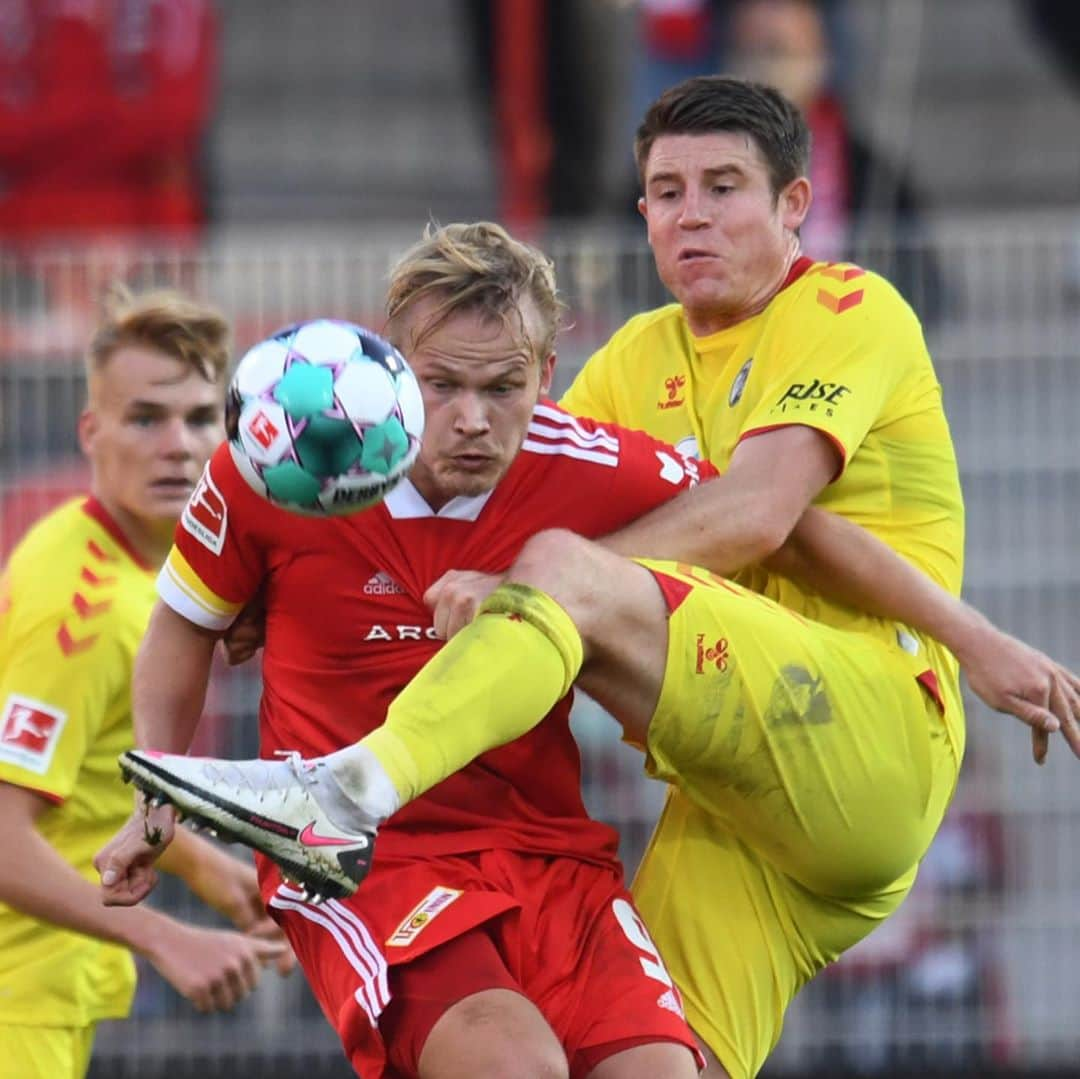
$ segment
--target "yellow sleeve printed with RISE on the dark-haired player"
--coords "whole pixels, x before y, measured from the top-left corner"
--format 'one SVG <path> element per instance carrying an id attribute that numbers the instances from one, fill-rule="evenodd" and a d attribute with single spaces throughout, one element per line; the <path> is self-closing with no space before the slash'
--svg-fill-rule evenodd
<path id="1" fill-rule="evenodd" d="M 825 434 L 845 467 L 902 407 L 902 387 L 929 363 L 915 313 L 883 279 L 837 266 L 799 291 L 755 356 L 775 373 L 740 440 L 793 423 Z M 841 470 L 842 471 L 842 470 Z"/>

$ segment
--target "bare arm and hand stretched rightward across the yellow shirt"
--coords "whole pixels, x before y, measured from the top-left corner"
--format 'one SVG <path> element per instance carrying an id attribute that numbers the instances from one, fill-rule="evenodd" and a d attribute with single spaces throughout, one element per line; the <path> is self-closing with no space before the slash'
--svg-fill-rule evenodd
<path id="1" fill-rule="evenodd" d="M 833 599 L 940 640 L 959 660 L 972 692 L 1031 728 L 1038 764 L 1056 730 L 1080 757 L 1080 677 L 1001 632 L 865 529 L 811 507 L 766 564 Z"/>

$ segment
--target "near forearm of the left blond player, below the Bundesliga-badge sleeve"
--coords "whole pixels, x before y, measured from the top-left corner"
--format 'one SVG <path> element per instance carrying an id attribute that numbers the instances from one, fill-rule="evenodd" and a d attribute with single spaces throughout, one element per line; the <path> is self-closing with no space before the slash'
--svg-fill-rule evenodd
<path id="1" fill-rule="evenodd" d="M 40 921 L 145 954 L 165 916 L 150 907 L 107 907 L 41 835 L 9 837 L 0 865 L 0 900 Z"/>

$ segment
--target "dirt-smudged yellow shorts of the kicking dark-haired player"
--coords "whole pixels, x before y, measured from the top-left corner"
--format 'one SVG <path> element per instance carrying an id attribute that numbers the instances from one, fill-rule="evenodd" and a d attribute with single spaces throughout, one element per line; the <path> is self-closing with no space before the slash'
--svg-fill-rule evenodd
<path id="1" fill-rule="evenodd" d="M 910 890 L 959 760 L 899 646 L 643 565 L 693 588 L 669 619 L 647 768 L 672 790 L 634 898 L 691 1025 L 746 1079 L 795 994 Z"/>

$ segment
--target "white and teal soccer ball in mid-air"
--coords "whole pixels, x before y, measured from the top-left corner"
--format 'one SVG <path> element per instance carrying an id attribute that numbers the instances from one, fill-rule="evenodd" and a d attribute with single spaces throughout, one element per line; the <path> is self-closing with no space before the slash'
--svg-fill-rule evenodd
<path id="1" fill-rule="evenodd" d="M 351 322 L 316 319 L 244 354 L 229 386 L 226 430 L 256 494 L 294 513 L 355 513 L 411 468 L 423 402 L 392 345 Z"/>

